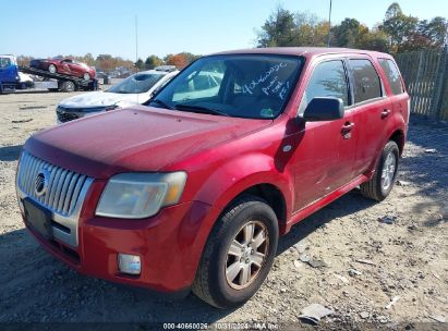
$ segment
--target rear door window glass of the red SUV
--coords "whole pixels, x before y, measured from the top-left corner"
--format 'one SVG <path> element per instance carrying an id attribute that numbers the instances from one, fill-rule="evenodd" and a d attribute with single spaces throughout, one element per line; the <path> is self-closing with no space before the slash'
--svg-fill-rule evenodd
<path id="1" fill-rule="evenodd" d="M 368 60 L 349 60 L 353 71 L 354 102 L 363 102 L 382 97 L 382 82 Z"/>

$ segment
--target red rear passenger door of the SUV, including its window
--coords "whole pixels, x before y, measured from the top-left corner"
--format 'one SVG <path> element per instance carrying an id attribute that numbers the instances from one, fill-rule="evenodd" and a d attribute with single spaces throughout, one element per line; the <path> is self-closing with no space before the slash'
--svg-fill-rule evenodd
<path id="1" fill-rule="evenodd" d="M 360 134 L 353 163 L 353 175 L 356 176 L 374 169 L 386 144 L 388 127 L 393 125 L 393 117 L 375 62 L 359 56 L 348 59 L 348 64 L 354 99 L 351 112 Z"/>

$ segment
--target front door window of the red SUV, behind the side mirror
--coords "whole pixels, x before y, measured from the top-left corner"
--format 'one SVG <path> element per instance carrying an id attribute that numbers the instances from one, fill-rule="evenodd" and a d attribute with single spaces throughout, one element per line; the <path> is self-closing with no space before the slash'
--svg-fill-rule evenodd
<path id="1" fill-rule="evenodd" d="M 349 105 L 349 87 L 346 70 L 341 60 L 326 61 L 317 64 L 310 78 L 299 107 L 299 114 L 303 114 L 306 106 L 313 98 L 335 97 Z"/>

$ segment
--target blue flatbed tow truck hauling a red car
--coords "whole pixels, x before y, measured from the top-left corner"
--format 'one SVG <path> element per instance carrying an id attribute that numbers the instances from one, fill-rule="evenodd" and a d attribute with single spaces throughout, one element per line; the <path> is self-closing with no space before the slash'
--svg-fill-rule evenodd
<path id="1" fill-rule="evenodd" d="M 80 77 L 50 73 L 35 68 L 19 66 L 14 56 L 0 56 L 0 94 L 7 89 L 15 90 L 16 88 L 24 88 L 21 73 L 41 77 L 41 82 L 34 83 L 34 86 L 37 88 L 61 91 L 78 89 L 94 90 L 98 88 L 98 82 L 96 79 L 84 81 Z"/>

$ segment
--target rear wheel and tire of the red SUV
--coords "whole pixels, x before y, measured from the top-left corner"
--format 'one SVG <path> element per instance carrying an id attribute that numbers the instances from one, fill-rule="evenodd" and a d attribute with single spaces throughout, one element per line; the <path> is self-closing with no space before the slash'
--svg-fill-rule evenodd
<path id="1" fill-rule="evenodd" d="M 393 188 L 399 159 L 400 151 L 397 143 L 388 142 L 383 148 L 374 176 L 368 182 L 361 184 L 361 194 L 367 198 L 383 201 Z"/>

